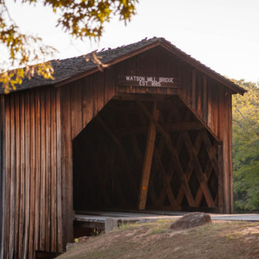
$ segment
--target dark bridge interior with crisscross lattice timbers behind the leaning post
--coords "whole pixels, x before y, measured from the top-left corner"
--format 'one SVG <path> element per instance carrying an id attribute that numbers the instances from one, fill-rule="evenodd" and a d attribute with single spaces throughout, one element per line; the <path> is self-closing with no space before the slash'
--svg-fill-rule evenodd
<path id="1" fill-rule="evenodd" d="M 136 208 L 152 105 L 113 101 L 74 140 L 78 209 Z M 219 143 L 180 99 L 158 110 L 146 208 L 218 207 Z"/>

